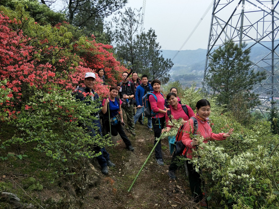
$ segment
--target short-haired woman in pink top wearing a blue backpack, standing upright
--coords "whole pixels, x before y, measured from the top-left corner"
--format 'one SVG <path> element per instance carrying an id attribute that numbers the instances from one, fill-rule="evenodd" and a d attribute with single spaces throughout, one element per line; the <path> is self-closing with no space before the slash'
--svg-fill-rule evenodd
<path id="1" fill-rule="evenodd" d="M 164 128 L 165 125 L 165 114 L 167 113 L 167 110 L 165 108 L 165 99 L 163 94 L 160 92 L 161 88 L 161 82 L 158 79 L 154 79 L 151 82 L 151 86 L 153 87 L 153 94 L 156 96 L 156 98 L 153 95 L 149 96 L 149 102 L 151 106 L 151 110 L 155 113 L 152 115 L 152 125 L 154 130 L 154 146 L 157 143 L 157 138 L 161 136 L 161 131 Z M 161 140 L 157 144 L 155 148 L 155 157 L 156 162 L 158 165 L 164 165 L 163 161 L 163 155 L 161 151 Z"/>

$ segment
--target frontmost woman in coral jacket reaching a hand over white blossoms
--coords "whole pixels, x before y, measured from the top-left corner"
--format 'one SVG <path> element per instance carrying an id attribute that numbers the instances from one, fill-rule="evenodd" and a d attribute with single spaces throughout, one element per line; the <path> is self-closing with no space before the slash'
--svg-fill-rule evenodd
<path id="1" fill-rule="evenodd" d="M 208 140 L 224 140 L 233 132 L 234 129 L 231 128 L 228 133 L 213 133 L 208 121 L 209 115 L 209 101 L 207 101 L 206 99 L 199 100 L 196 104 L 196 115 L 194 116 L 198 122 L 197 130 L 194 130 L 193 119 L 189 119 L 183 129 L 184 133 L 181 140 L 182 143 L 186 146 L 183 151 L 183 155 L 186 154 L 187 158 L 192 159 L 192 150 L 198 149 L 198 141 L 196 138 L 190 138 L 190 132 L 194 134 L 195 131 L 195 134 L 203 136 L 203 138 L 205 138 L 203 143 L 207 143 Z M 186 164 L 189 171 L 189 183 L 194 200 L 195 202 L 199 202 L 201 206 L 206 206 L 206 203 L 203 200 L 202 196 L 200 175 L 198 172 L 196 172 L 193 164 L 190 161 L 186 160 Z"/>

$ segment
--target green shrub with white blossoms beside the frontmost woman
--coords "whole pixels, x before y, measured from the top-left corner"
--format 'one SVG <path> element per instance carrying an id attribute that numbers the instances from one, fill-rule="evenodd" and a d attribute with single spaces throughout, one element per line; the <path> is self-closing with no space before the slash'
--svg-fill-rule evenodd
<path id="1" fill-rule="evenodd" d="M 188 99 L 196 102 L 200 97 L 198 92 L 192 92 Z M 181 100 L 187 101 L 185 98 Z M 230 113 L 221 114 L 223 107 L 216 106 L 214 100 L 210 100 L 210 104 L 213 132 L 227 133 L 234 128 L 231 137 L 223 141 L 205 144 L 202 136 L 195 136 L 199 146 L 193 150 L 191 161 L 197 171 L 201 173 L 202 170 L 210 206 L 279 208 L 279 137 L 272 134 L 270 122 L 254 120 L 253 124 L 245 127 Z M 175 129 L 179 125 L 178 122 L 169 135 L 176 135 Z"/>

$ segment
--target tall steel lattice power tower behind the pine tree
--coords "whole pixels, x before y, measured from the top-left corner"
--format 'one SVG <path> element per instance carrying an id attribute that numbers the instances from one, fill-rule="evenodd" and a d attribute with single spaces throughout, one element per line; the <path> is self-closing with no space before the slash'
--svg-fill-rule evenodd
<path id="1" fill-rule="evenodd" d="M 279 104 L 278 4 L 279 0 L 214 0 L 213 4 L 204 78 L 210 76 L 209 63 L 214 49 L 222 46 L 225 40 L 247 43 L 246 48 L 251 48 L 250 55 L 256 47 L 260 47 L 261 53 L 253 60 L 251 58 L 251 69 L 266 72 L 267 79 L 253 89 L 262 101 L 254 110 L 262 113 L 271 107 L 270 100 Z M 203 88 L 210 91 L 205 82 Z"/>

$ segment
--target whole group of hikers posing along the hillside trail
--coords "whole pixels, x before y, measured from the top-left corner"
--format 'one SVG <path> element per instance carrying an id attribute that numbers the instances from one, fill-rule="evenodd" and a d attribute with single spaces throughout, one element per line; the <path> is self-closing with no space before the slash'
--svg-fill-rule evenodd
<path id="1" fill-rule="evenodd" d="M 105 84 L 105 71 L 103 68 L 98 69 L 97 76 L 103 80 Z M 135 133 L 135 123 L 138 121 L 143 125 L 142 113 L 143 113 L 143 101 L 142 98 L 147 94 L 149 95 L 149 103 L 152 113 L 147 116 L 147 129 L 150 132 L 154 132 L 154 146 L 157 143 L 157 139 L 161 136 L 163 132 L 169 132 L 173 127 L 172 120 L 178 120 L 182 118 L 183 125 L 183 135 L 181 141 L 185 146 L 182 154 L 174 152 L 169 166 L 168 175 L 171 179 L 176 179 L 175 171 L 178 168 L 177 157 L 183 155 L 189 159 L 192 159 L 192 150 L 198 149 L 198 141 L 196 138 L 191 138 L 190 135 L 201 135 L 204 138 L 204 143 L 208 140 L 224 140 L 231 135 L 233 129 L 231 128 L 228 133 L 218 133 L 212 132 L 209 124 L 208 117 L 210 115 L 210 103 L 206 99 L 199 100 L 196 103 L 196 114 L 191 109 L 190 106 L 182 104 L 180 99 L 177 97 L 177 88 L 172 87 L 170 92 L 167 94 L 166 99 L 161 93 L 161 82 L 158 79 L 148 81 L 147 75 L 142 75 L 139 79 L 136 72 L 132 73 L 132 78 L 128 78 L 128 73 L 125 71 L 122 73 L 122 81 L 117 84 L 117 86 L 111 86 L 109 90 L 109 95 L 107 99 L 100 101 L 100 106 L 102 105 L 102 126 L 100 122 L 99 114 L 96 113 L 96 119 L 92 120 L 92 127 L 86 127 L 91 136 L 96 134 L 107 134 L 110 132 L 111 135 L 120 135 L 123 142 L 126 145 L 126 149 L 129 151 L 134 151 L 134 147 L 131 145 L 131 141 L 127 137 L 123 127 L 125 125 L 123 121 L 122 109 L 125 110 L 127 116 L 127 128 L 132 135 Z M 91 93 L 92 100 L 99 100 L 98 94 L 93 90 L 95 85 L 96 75 L 92 72 L 88 72 L 84 77 L 84 84 L 86 87 L 80 87 L 76 90 L 76 99 L 81 101 L 85 100 L 85 93 Z M 119 94 L 119 97 L 118 97 Z M 137 109 L 136 112 L 134 110 Z M 165 127 L 166 124 L 166 127 Z M 94 130 L 94 126 L 98 127 L 98 132 Z M 103 127 L 103 131 L 102 131 Z M 153 130 L 152 130 L 153 128 Z M 104 147 L 95 147 L 96 152 L 101 152 L 97 158 L 99 165 L 101 166 L 102 173 L 104 175 L 108 174 L 109 167 L 115 167 L 115 164 L 110 160 L 110 154 L 106 151 Z M 155 157 L 158 165 L 163 166 L 163 155 L 161 151 L 161 141 L 158 142 L 155 148 Z M 203 198 L 201 190 L 201 177 L 199 172 L 197 172 L 191 163 L 191 161 L 186 160 L 186 165 L 189 172 L 189 183 L 192 195 L 195 202 L 199 202 L 201 206 L 206 206 L 205 200 Z"/>

